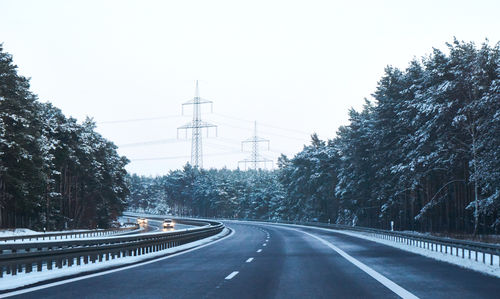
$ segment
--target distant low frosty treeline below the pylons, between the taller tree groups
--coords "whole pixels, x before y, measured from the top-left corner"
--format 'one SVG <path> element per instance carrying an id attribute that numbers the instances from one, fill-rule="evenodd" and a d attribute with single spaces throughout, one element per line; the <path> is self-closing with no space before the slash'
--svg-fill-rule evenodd
<path id="1" fill-rule="evenodd" d="M 181 216 L 280 219 L 284 192 L 277 173 L 263 170 L 182 170 L 128 178 L 129 209 Z"/>

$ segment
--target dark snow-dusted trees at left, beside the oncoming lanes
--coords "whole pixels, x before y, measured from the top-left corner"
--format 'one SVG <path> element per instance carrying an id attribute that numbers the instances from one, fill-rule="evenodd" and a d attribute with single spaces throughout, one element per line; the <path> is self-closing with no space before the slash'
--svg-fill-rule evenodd
<path id="1" fill-rule="evenodd" d="M 0 44 L 0 225 L 107 227 L 125 207 L 127 159 L 95 131 L 41 103 Z"/>

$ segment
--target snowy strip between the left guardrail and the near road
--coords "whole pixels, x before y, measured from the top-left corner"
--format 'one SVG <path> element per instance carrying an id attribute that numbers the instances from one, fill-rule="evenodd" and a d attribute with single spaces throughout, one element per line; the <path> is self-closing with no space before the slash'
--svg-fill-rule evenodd
<path id="1" fill-rule="evenodd" d="M 67 276 L 72 276 L 72 275 L 78 275 L 81 273 L 85 272 L 94 272 L 94 271 L 104 271 L 109 268 L 114 268 L 114 267 L 123 267 L 115 270 L 109 270 L 111 271 L 121 271 L 125 269 L 130 269 L 133 267 L 137 267 L 140 265 L 144 265 L 146 263 L 150 262 L 156 262 L 161 259 L 165 259 L 168 257 L 171 257 L 173 254 L 176 253 L 181 253 L 181 251 L 186 252 L 188 249 L 195 250 L 197 248 L 201 248 L 203 245 L 209 245 L 209 243 L 212 243 L 216 240 L 220 240 L 223 237 L 228 236 L 229 230 L 227 228 L 224 228 L 224 230 L 220 233 L 218 233 L 215 236 L 208 237 L 202 240 L 194 241 L 188 244 L 168 248 L 162 251 L 158 252 L 153 252 L 153 253 L 148 253 L 144 254 L 141 256 L 127 256 L 127 257 L 122 257 L 122 258 L 117 258 L 114 260 L 109 260 L 109 261 L 103 261 L 103 262 L 95 262 L 95 263 L 89 263 L 89 264 L 81 264 L 80 266 L 64 266 L 62 269 L 54 269 L 54 270 L 47 270 L 46 266 L 43 267 L 41 272 L 31 272 L 31 273 L 22 273 L 18 274 L 15 276 L 12 275 L 4 275 L 2 279 L 0 279 L 0 290 L 11 290 L 11 289 L 16 289 L 19 287 L 23 286 L 29 286 L 38 282 L 43 282 L 46 280 L 52 280 L 52 279 L 57 279 L 57 278 L 64 278 Z M 167 256 L 165 256 L 167 255 Z M 163 257 L 165 256 L 165 257 Z M 159 259 L 155 259 L 153 261 L 148 261 L 140 264 L 135 264 L 135 265 L 130 265 L 134 264 L 143 260 L 149 260 L 152 258 L 158 257 Z M 161 258 L 163 257 L 163 258 Z M 130 265 L 128 267 L 124 267 L 126 265 Z M 89 274 L 85 275 L 83 277 L 79 277 L 76 279 L 84 279 L 86 277 L 93 277 L 93 276 L 98 276 L 102 275 L 103 273 L 96 273 L 96 274 Z M 61 282 L 56 282 L 54 284 L 60 284 Z M 14 294 L 2 294 L 0 297 L 3 297 L 5 295 L 14 295 Z"/>

